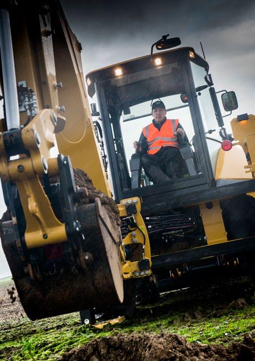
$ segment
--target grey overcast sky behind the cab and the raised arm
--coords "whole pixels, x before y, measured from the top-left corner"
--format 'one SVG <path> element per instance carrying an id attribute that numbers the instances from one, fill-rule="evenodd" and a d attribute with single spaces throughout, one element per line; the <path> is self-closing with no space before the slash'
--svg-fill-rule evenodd
<path id="1" fill-rule="evenodd" d="M 62 0 L 62 5 L 82 44 L 84 74 L 147 55 L 165 34 L 181 37 L 182 46 L 199 54 L 201 41 L 216 90 L 236 92 L 239 108 L 233 116 L 255 113 L 254 0 Z M 0 278 L 9 274 L 0 250 Z"/>

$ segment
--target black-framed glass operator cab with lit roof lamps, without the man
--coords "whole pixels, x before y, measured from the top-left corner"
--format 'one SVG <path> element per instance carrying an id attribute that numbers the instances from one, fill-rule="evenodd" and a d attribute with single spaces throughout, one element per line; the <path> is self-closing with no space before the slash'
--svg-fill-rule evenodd
<path id="1" fill-rule="evenodd" d="M 208 71 L 208 63 L 193 48 L 183 47 L 87 74 L 88 93 L 90 97 L 96 93 L 98 99 L 116 201 L 134 195 L 144 199 L 152 193 L 166 197 L 168 192 L 182 194 L 192 187 L 214 185 L 210 153 L 220 144 L 207 144 L 206 132 L 223 122 L 217 119 Z M 152 121 L 151 102 L 158 99 L 164 102 L 168 119 L 179 119 L 189 141 L 179 145 L 181 176 L 164 184 L 153 184 L 146 177 L 133 148 L 133 141 Z"/>

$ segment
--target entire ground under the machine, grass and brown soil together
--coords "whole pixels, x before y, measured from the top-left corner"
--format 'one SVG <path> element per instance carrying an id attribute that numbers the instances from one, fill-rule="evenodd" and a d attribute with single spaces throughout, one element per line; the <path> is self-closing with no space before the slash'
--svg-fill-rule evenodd
<path id="1" fill-rule="evenodd" d="M 254 289 L 247 277 L 166 292 L 103 330 L 81 326 L 77 314 L 31 322 L 18 296 L 12 303 L 13 287 L 11 280 L 0 284 L 1 360 L 254 360 Z"/>

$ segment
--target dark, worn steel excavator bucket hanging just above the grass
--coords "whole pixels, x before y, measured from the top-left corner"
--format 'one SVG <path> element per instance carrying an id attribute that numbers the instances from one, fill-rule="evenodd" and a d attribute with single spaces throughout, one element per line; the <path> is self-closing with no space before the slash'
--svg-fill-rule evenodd
<path id="1" fill-rule="evenodd" d="M 80 206 L 78 213 L 84 235 L 83 247 L 86 248 L 86 252 L 79 254 L 76 259 L 80 271 L 76 267 L 73 270 L 67 267 L 71 261 L 74 263 L 74 259 L 67 259 L 63 244 L 57 245 L 55 249 L 52 247 L 55 256 L 58 256 L 56 253 L 62 253 L 62 258 L 55 259 L 55 262 L 46 258 L 54 257 L 53 253 L 44 252 L 44 268 L 51 266 L 47 275 L 45 272 L 42 275 L 41 271 L 40 275 L 36 275 L 31 265 L 24 269 L 17 240 L 12 237 L 12 221 L 2 223 L 5 233 L 5 237 L 1 237 L 2 247 L 21 303 L 31 320 L 118 304 L 123 300 L 116 230 L 99 198 L 94 204 Z M 43 250 L 40 251 L 42 253 Z M 54 263 L 55 267 L 62 269 L 56 272 L 52 269 Z"/>

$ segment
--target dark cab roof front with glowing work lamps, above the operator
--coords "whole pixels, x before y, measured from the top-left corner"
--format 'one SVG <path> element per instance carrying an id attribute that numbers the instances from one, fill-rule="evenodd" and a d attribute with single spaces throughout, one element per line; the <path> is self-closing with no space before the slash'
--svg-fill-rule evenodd
<path id="1" fill-rule="evenodd" d="M 159 58 L 160 64 L 157 64 Z M 86 75 L 88 94 L 92 98 L 95 84 L 100 83 L 100 87 L 107 91 L 109 105 L 118 109 L 158 98 L 159 95 L 181 94 L 185 91 L 181 68 L 185 69 L 187 60 L 208 72 L 208 63 L 193 48 L 171 49 L 154 53 L 152 61 L 151 56 L 146 55 L 89 72 Z M 160 82 L 160 92 L 155 87 L 155 79 Z"/>

